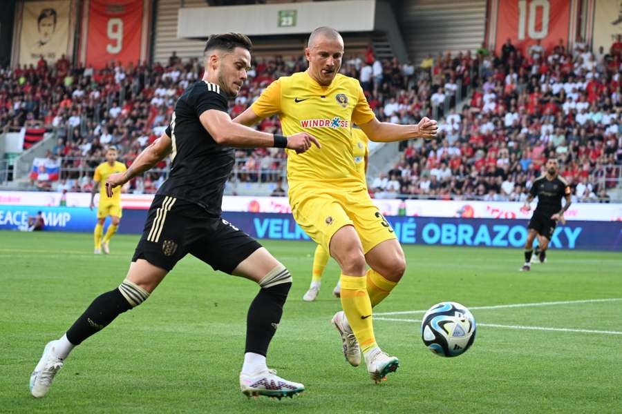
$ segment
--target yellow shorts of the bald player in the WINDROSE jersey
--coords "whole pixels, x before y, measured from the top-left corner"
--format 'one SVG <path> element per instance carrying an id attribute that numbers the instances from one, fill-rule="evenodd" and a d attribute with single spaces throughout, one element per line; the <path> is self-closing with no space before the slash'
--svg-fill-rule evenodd
<path id="1" fill-rule="evenodd" d="M 385 240 L 397 239 L 364 187 L 348 190 L 296 184 L 290 187 L 290 205 L 296 223 L 327 252 L 334 233 L 348 224 L 357 230 L 364 253 Z"/>

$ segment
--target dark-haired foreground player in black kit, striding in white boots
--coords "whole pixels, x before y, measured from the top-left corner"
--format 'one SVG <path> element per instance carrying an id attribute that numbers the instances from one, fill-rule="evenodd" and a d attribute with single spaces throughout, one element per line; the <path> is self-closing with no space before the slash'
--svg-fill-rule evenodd
<path id="1" fill-rule="evenodd" d="M 49 342 L 30 377 L 30 393 L 44 397 L 73 347 L 144 302 L 187 253 L 229 275 L 257 282 L 260 290 L 247 314 L 246 350 L 240 374 L 245 395 L 292 396 L 303 384 L 276 376 L 265 355 L 276 331 L 292 277 L 258 242 L 220 217 L 225 181 L 234 149 L 255 147 L 308 150 L 317 139 L 305 132 L 290 137 L 234 124 L 227 99 L 238 95 L 250 68 L 252 43 L 244 34 L 215 34 L 203 53 L 205 75 L 178 99 L 166 132 L 126 171 L 110 175 L 112 189 L 171 155 L 171 174 L 153 199 L 126 278 L 95 298 L 60 339 Z"/>

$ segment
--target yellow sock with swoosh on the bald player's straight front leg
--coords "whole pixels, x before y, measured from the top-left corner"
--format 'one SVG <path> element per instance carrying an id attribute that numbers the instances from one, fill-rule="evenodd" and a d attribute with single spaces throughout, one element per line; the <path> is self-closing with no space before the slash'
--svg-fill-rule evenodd
<path id="1" fill-rule="evenodd" d="M 361 352 L 375 348 L 376 338 L 372 324 L 372 309 L 367 293 L 366 277 L 346 276 L 341 274 L 341 306 L 346 313 L 348 323 L 354 332 Z"/>

